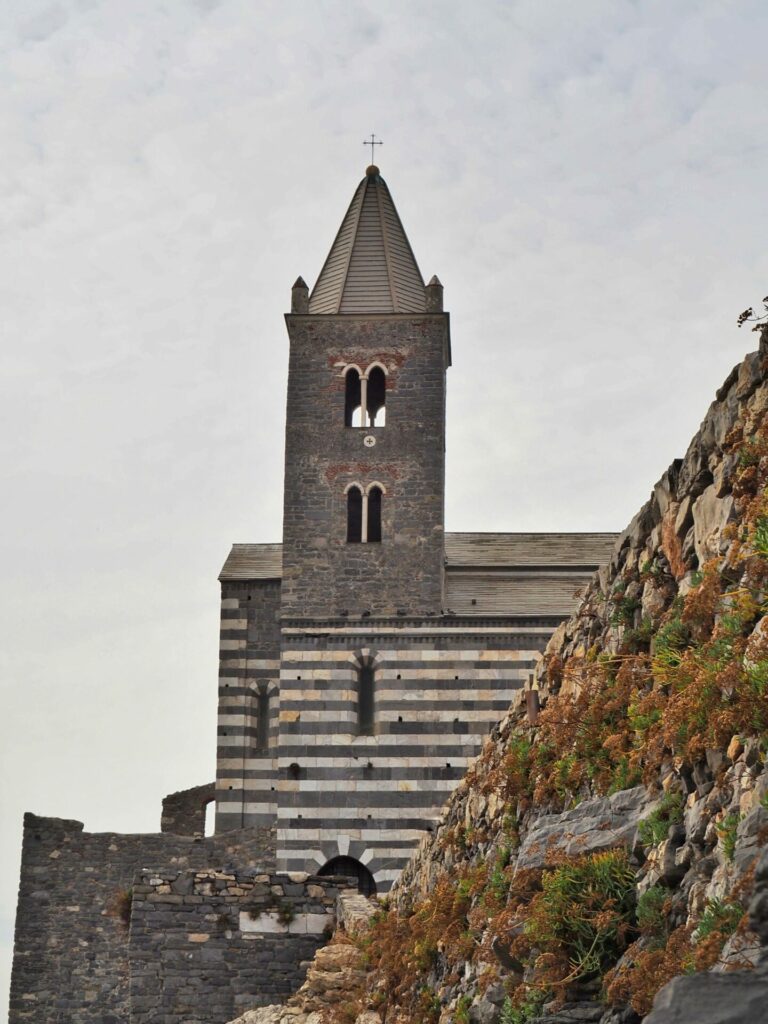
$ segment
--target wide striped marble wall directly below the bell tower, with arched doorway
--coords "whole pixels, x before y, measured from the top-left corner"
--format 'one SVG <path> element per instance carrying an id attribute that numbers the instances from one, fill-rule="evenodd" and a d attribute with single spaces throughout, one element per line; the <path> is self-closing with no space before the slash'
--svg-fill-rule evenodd
<path id="1" fill-rule="evenodd" d="M 444 621 L 443 621 L 444 622 Z M 278 863 L 335 856 L 389 889 L 503 717 L 552 626 L 302 629 L 283 635 Z M 357 668 L 375 665 L 373 735 L 357 734 Z"/>

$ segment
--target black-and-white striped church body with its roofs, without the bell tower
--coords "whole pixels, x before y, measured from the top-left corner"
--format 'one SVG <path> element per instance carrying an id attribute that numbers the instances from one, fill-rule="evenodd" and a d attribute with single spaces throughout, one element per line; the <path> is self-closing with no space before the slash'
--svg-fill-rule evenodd
<path id="1" fill-rule="evenodd" d="M 449 534 L 458 608 L 355 621 L 286 617 L 280 546 L 236 545 L 220 577 L 217 831 L 276 824 L 281 869 L 351 857 L 386 891 L 612 542 Z"/>

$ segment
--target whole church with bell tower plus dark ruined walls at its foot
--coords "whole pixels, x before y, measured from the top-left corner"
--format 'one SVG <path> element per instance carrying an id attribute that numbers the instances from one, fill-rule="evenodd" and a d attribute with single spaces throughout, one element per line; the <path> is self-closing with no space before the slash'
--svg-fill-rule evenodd
<path id="1" fill-rule="evenodd" d="M 11 1024 L 224 1024 L 289 995 L 609 559 L 612 534 L 445 532 L 449 314 L 377 167 L 286 325 L 283 543 L 219 575 L 215 784 L 154 835 L 25 815 Z"/>

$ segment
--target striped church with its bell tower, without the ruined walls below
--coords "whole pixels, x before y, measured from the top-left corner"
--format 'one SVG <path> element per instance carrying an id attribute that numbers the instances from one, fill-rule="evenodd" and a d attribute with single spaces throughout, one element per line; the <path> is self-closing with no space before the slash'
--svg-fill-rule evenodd
<path id="1" fill-rule="evenodd" d="M 450 319 L 378 167 L 286 324 L 283 544 L 219 577 L 216 828 L 381 892 L 614 535 L 445 532 Z"/>

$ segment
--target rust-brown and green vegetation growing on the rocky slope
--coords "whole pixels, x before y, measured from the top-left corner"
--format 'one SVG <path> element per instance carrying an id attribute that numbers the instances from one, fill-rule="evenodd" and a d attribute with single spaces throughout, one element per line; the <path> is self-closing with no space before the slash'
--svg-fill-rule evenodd
<path id="1" fill-rule="evenodd" d="M 635 568 L 607 598 L 612 624 L 624 627 L 617 652 L 597 645 L 581 657 L 548 658 L 549 696 L 537 727 L 520 719 L 503 756 L 488 744 L 468 776 L 471 788 L 502 806 L 496 835 L 442 829 L 439 842 L 458 864 L 415 906 L 381 912 L 362 940 L 369 982 L 345 1012 L 368 1006 L 436 1022 L 463 965 L 496 965 L 501 946 L 506 967 L 486 967 L 484 980 L 505 979 L 505 1024 L 530 1019 L 545 997 L 561 998 L 590 978 L 603 980 L 606 1000 L 644 1014 L 668 980 L 720 956 L 743 915 L 743 894 L 673 927 L 669 893 L 636 902 L 635 867 L 624 851 L 518 872 L 513 852 L 534 806 L 562 809 L 641 780 L 653 784 L 663 768 L 692 767 L 734 735 L 768 738 L 768 629 L 755 630 L 768 591 L 768 424 L 748 424 L 727 445 L 738 460 L 727 561 L 703 566 L 684 597 L 639 626 L 638 602 L 625 590 L 662 570 Z M 672 551 L 666 542 L 680 580 L 679 545 Z M 662 815 L 660 833 L 667 827 Z M 456 1020 L 463 1014 L 459 1007 Z"/>

